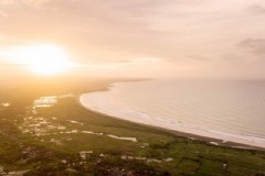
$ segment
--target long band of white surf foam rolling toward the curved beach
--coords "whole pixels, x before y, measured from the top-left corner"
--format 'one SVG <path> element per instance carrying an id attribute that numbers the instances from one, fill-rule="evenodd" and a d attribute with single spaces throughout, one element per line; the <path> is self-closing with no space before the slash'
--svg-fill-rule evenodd
<path id="1" fill-rule="evenodd" d="M 114 87 L 112 87 L 112 89 Z M 106 92 L 107 91 L 84 94 L 80 97 L 80 102 L 89 110 L 128 121 L 265 148 L 265 139 L 205 129 L 178 119 L 170 119 L 169 117 L 156 117 L 147 112 L 138 112 L 123 105 L 113 103 L 113 101 L 106 99 Z"/>

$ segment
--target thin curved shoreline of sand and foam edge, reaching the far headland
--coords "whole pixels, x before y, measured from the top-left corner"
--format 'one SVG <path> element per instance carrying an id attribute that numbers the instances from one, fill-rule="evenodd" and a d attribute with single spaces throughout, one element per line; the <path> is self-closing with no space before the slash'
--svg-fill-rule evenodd
<path id="1" fill-rule="evenodd" d="M 167 131 L 171 134 L 174 134 L 177 136 L 183 136 L 190 140 L 198 140 L 198 141 L 203 141 L 206 142 L 209 145 L 215 145 L 215 146 L 225 146 L 225 147 L 233 147 L 233 148 L 243 148 L 243 150 L 259 150 L 259 151 L 264 151 L 265 150 L 265 139 L 263 141 L 263 143 L 257 143 L 257 138 L 253 138 L 253 136 L 240 136 L 237 134 L 230 134 L 230 133 L 225 133 L 225 132 L 219 132 L 219 131 L 212 131 L 212 130 L 202 130 L 202 129 L 188 129 L 187 124 L 184 123 L 179 123 L 179 129 L 177 129 L 176 127 L 170 127 L 169 124 L 161 124 L 162 121 L 156 121 L 156 120 L 149 120 L 149 121 L 142 121 L 142 119 L 140 118 L 134 118 L 134 120 L 131 120 L 131 117 L 123 117 L 123 116 L 118 116 L 118 114 L 109 114 L 106 111 L 95 108 L 95 107 L 89 107 L 89 105 L 87 106 L 87 103 L 84 102 L 84 97 L 87 95 L 92 95 L 92 94 L 99 94 L 103 91 L 109 91 L 109 88 L 112 88 L 113 85 L 109 84 L 104 90 L 95 90 L 95 91 L 89 91 L 87 94 L 82 94 L 78 95 L 78 103 L 87 109 L 88 111 L 93 111 L 94 113 L 98 113 L 98 114 L 103 114 L 109 118 L 114 118 L 114 119 L 118 119 L 118 120 L 123 120 L 123 121 L 127 121 L 130 123 L 137 123 L 140 125 L 145 125 L 147 128 L 155 128 L 155 129 L 159 129 L 162 131 Z M 126 114 L 124 114 L 126 116 Z M 176 124 L 173 124 L 176 125 Z M 182 127 L 181 127 L 182 125 Z M 248 139 L 246 139 L 248 138 Z M 263 140 L 263 139 L 262 139 Z M 254 144 L 255 143 L 255 144 Z M 253 145 L 254 144 L 254 145 Z"/>

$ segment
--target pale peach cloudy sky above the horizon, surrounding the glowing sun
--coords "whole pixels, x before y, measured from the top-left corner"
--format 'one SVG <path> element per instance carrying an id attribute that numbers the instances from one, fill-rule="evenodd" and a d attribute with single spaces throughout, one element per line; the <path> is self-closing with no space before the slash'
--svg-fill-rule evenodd
<path id="1" fill-rule="evenodd" d="M 66 51 L 76 75 L 265 79 L 265 1 L 0 0 L 0 70 L 38 44 Z"/>

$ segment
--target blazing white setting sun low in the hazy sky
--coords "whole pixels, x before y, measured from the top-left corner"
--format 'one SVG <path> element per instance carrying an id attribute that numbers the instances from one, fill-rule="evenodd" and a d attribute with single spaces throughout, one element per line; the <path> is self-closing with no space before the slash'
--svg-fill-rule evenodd
<path id="1" fill-rule="evenodd" d="M 64 48 L 49 44 L 23 46 L 17 53 L 17 58 L 28 69 L 44 76 L 61 74 L 70 69 L 73 64 L 68 57 Z"/>

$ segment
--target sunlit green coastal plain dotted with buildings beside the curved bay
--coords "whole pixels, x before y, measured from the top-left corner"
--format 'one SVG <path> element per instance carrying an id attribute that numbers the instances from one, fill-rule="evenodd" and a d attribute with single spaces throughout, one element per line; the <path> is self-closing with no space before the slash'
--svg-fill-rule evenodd
<path id="1" fill-rule="evenodd" d="M 265 175 L 263 151 L 210 145 L 98 114 L 78 103 L 80 94 L 104 89 L 107 84 L 54 92 L 2 88 L 0 101 L 10 102 L 0 107 L 2 175 L 19 170 L 26 176 Z M 32 111 L 34 99 L 61 94 L 74 96 L 59 99 L 51 108 L 36 108 L 38 113 Z"/>

